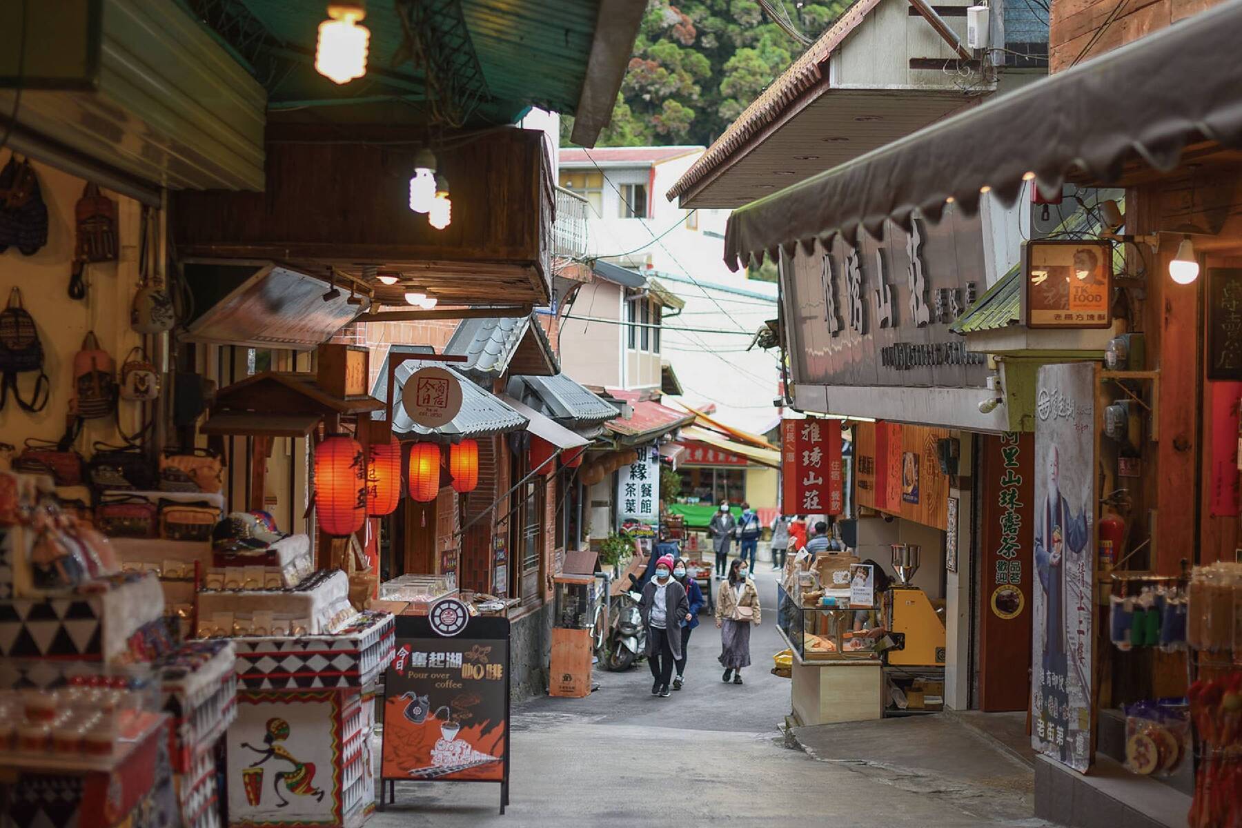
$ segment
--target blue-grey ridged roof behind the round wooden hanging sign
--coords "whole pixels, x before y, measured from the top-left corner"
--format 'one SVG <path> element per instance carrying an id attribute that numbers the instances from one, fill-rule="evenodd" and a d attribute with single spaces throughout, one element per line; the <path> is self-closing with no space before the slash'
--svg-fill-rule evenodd
<path id="1" fill-rule="evenodd" d="M 437 360 L 410 360 L 402 362 L 396 369 L 394 377 L 396 392 L 401 394 L 410 375 L 421 367 L 433 365 L 446 369 L 457 377 L 462 385 L 462 410 L 447 425 L 438 428 L 426 428 L 410 420 L 400 405 L 392 406 L 392 434 L 397 439 L 426 439 L 435 443 L 456 443 L 472 437 L 497 434 L 517 431 L 527 427 L 527 418 L 513 410 L 503 400 L 493 394 L 488 394 L 468 376 L 457 371 L 451 364 Z M 388 402 L 388 359 L 385 358 L 371 396 Z M 375 420 L 383 420 L 385 412 L 376 411 L 371 415 Z"/>

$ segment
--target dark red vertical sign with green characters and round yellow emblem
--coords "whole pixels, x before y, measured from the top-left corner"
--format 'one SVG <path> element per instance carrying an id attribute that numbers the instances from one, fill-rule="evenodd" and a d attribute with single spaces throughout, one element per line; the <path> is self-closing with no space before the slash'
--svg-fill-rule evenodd
<path id="1" fill-rule="evenodd" d="M 981 434 L 979 446 L 979 706 L 990 713 L 1026 710 L 1031 683 L 1026 672 L 1015 670 L 1013 664 L 1031 662 L 1035 439 L 1013 432 Z M 1041 675 L 1041 669 L 1035 675 Z"/>

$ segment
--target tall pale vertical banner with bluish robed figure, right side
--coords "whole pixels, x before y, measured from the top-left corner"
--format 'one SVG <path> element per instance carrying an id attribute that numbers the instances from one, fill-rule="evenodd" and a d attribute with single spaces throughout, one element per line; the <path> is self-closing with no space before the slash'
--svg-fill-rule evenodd
<path id="1" fill-rule="evenodd" d="M 1093 731 L 1095 367 L 1042 366 L 1035 421 L 1031 742 L 1081 772 L 1090 765 Z"/>

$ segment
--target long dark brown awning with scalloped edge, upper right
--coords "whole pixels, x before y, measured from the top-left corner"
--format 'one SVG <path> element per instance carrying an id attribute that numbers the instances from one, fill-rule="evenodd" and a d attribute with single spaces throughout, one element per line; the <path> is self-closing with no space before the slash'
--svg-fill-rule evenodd
<path id="1" fill-rule="evenodd" d="M 972 215 L 986 190 L 1010 205 L 1028 173 L 1053 191 L 1069 178 L 1120 182 L 1135 158 L 1167 173 L 1196 142 L 1242 146 L 1242 82 L 1222 68 L 1240 40 L 1232 0 L 751 202 L 729 218 L 725 263 L 859 227 L 879 238 L 889 218 L 908 231 L 946 200 Z"/>

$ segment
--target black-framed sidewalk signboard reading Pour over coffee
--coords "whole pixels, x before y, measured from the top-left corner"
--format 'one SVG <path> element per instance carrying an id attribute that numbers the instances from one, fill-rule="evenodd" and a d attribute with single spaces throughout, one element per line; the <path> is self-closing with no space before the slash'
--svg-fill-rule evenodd
<path id="1" fill-rule="evenodd" d="M 509 787 L 509 622 L 471 617 L 456 598 L 397 616 L 384 679 L 381 778 Z M 383 794 L 383 790 L 381 790 Z M 383 796 L 381 796 L 383 802 Z"/>

